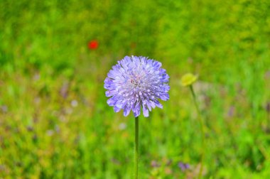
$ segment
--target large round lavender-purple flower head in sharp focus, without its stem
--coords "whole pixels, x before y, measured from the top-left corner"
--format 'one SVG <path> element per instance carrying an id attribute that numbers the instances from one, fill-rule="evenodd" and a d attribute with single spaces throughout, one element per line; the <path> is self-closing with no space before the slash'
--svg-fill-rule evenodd
<path id="1" fill-rule="evenodd" d="M 107 103 L 114 107 L 114 112 L 123 109 L 124 116 L 131 110 L 134 116 L 139 116 L 141 107 L 144 116 L 149 116 L 148 111 L 152 108 L 163 107 L 158 99 L 169 99 L 168 79 L 166 70 L 158 61 L 126 56 L 109 70 L 104 80 L 106 97 L 111 97 Z"/>

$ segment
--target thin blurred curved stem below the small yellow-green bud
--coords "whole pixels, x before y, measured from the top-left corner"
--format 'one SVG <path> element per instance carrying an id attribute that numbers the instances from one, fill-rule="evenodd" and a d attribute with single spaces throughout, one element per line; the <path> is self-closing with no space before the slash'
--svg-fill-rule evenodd
<path id="1" fill-rule="evenodd" d="M 199 173 L 199 177 L 198 178 L 201 178 L 202 177 L 202 168 L 203 168 L 203 163 L 204 163 L 204 159 L 205 159 L 205 128 L 204 128 L 204 125 L 203 125 L 203 120 L 202 120 L 202 116 L 200 114 L 200 109 L 198 107 L 198 103 L 197 103 L 197 100 L 196 100 L 196 95 L 195 95 L 195 92 L 193 90 L 193 86 L 190 85 L 190 91 L 193 95 L 193 101 L 194 101 L 194 104 L 195 104 L 195 107 L 196 107 L 196 110 L 197 110 L 197 113 L 198 113 L 198 117 L 199 117 L 199 120 L 200 120 L 200 131 L 201 131 L 201 136 L 202 136 L 202 153 L 201 153 L 201 158 L 200 158 L 200 173 Z"/>

